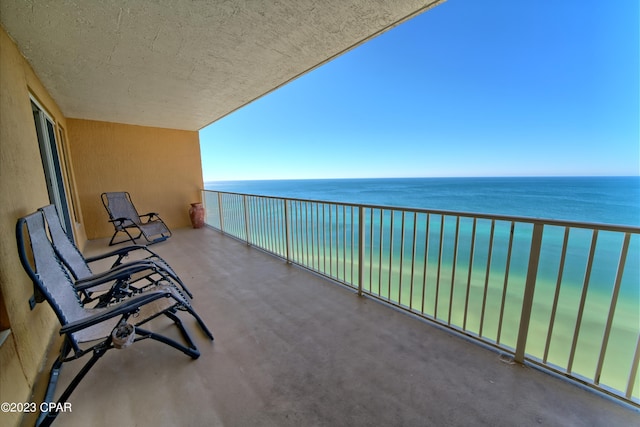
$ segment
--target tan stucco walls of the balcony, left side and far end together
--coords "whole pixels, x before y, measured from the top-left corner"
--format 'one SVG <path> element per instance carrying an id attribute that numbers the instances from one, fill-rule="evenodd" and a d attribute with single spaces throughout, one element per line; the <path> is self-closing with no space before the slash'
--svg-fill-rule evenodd
<path id="1" fill-rule="evenodd" d="M 64 129 L 58 154 L 70 168 L 65 184 L 75 202 L 70 208 L 78 246 L 87 236 L 112 234 L 103 191 L 129 191 L 141 213 L 159 212 L 169 227 L 179 228 L 190 225 L 189 203 L 200 200 L 203 187 L 197 132 L 65 119 L 0 27 L 0 329 L 11 329 L 0 345 L 2 402 L 42 399 L 32 396 L 33 388 L 46 380 L 43 362 L 59 325 L 47 304 L 29 310 L 33 285 L 15 239 L 17 219 L 49 203 L 30 94 Z M 0 425 L 18 425 L 21 418 L 0 413 Z"/>

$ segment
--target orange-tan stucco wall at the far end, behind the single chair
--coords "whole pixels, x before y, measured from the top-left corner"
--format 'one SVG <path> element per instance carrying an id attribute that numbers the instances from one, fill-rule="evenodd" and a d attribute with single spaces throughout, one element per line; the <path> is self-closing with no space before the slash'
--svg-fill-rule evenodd
<path id="1" fill-rule="evenodd" d="M 200 201 L 198 132 L 93 120 L 67 120 L 71 158 L 89 239 L 113 227 L 100 200 L 128 191 L 138 212 L 157 212 L 169 228 L 190 225 L 189 204 Z"/>

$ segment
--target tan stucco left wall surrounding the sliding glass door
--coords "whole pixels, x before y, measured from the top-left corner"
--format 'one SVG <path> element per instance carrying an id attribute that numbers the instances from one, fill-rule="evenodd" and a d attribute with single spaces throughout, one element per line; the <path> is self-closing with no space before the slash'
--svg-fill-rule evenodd
<path id="1" fill-rule="evenodd" d="M 0 294 L 11 327 L 0 346 L 0 401 L 28 402 L 57 320 L 46 304 L 30 311 L 31 280 L 20 265 L 16 220 L 49 203 L 29 93 L 62 126 L 62 113 L 0 28 Z M 15 425 L 20 414 L 0 413 L 0 425 Z"/>

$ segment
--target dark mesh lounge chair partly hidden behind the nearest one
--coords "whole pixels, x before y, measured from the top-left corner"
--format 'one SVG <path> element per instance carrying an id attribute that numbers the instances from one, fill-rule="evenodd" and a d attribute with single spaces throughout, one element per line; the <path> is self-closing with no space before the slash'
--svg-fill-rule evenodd
<path id="1" fill-rule="evenodd" d="M 138 266 L 141 267 L 139 268 L 138 273 L 128 278 L 126 282 L 123 283 L 123 285 L 126 285 L 126 289 L 123 288 L 121 291 L 125 290 L 126 292 L 131 291 L 135 293 L 144 289 L 148 285 L 154 285 L 159 279 L 169 277 L 174 282 L 178 283 L 190 298 L 193 298 L 191 292 L 187 289 L 169 264 L 146 246 L 127 246 L 105 254 L 85 258 L 75 243 L 64 232 L 56 207 L 54 205 L 48 205 L 40 208 L 39 210 L 44 213 L 56 255 L 76 280 L 76 286 L 81 286 L 82 284 L 95 281 L 96 279 L 102 279 L 108 275 L 113 275 L 114 271 L 117 272 L 122 270 L 122 266 Z M 143 258 L 123 263 L 123 260 L 125 260 L 131 253 L 137 253 Z M 108 271 L 95 274 L 89 267 L 89 264 L 93 262 L 109 258 L 115 258 L 115 262 L 111 265 L 111 268 Z M 119 292 L 121 293 L 121 291 Z M 115 295 L 100 295 L 103 302 L 105 299 L 111 300 L 114 297 Z M 92 296 L 91 292 L 85 291 L 84 298 L 83 303 L 88 303 L 95 297 Z"/>

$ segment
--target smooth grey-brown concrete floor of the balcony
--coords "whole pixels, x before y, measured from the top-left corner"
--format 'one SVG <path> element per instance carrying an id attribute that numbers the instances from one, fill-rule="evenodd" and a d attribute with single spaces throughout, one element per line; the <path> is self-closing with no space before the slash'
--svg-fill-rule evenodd
<path id="1" fill-rule="evenodd" d="M 152 247 L 192 290 L 201 357 L 111 350 L 61 426 L 627 426 L 637 411 L 415 319 L 211 229 Z M 86 255 L 107 250 L 92 241 Z M 169 322 L 154 321 L 156 330 Z M 172 329 L 175 329 L 171 327 Z M 55 349 L 54 349 L 55 350 Z M 55 353 L 55 351 L 53 351 Z M 78 362 L 63 368 L 58 393 Z M 47 368 L 48 369 L 48 368 Z"/>

